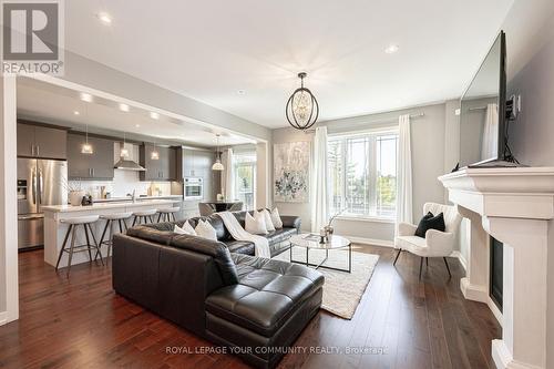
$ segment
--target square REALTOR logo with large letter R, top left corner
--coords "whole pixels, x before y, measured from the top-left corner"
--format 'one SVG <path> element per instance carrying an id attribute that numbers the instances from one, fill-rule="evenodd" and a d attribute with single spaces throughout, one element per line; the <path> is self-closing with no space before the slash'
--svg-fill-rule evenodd
<path id="1" fill-rule="evenodd" d="M 2 0 L 2 73 L 63 72 L 61 0 Z"/>

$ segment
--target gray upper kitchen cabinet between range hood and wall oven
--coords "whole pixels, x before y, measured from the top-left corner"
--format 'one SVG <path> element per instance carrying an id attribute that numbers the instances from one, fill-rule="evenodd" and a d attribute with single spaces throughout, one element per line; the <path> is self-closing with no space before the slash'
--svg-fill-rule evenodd
<path id="1" fill-rule="evenodd" d="M 152 158 L 152 152 L 157 151 L 158 158 Z M 173 147 L 154 146 L 145 143 L 140 148 L 140 164 L 146 170 L 140 173 L 141 181 L 176 181 L 176 155 Z"/>

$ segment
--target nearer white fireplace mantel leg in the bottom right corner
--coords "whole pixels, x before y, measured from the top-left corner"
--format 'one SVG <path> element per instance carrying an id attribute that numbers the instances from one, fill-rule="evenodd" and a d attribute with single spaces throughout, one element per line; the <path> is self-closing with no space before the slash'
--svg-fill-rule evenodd
<path id="1" fill-rule="evenodd" d="M 504 243 L 502 339 L 492 341 L 494 362 L 546 368 L 548 221 L 483 217 L 483 225 Z"/>

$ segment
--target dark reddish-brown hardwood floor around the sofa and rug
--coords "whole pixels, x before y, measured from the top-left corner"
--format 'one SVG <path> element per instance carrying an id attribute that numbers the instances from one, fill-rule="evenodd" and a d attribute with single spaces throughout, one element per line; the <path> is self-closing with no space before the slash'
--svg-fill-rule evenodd
<path id="1" fill-rule="evenodd" d="M 380 255 L 352 320 L 319 312 L 298 347 L 337 353 L 289 353 L 280 368 L 493 368 L 491 340 L 501 328 L 489 308 L 463 298 L 463 269 L 430 259 L 418 280 L 419 258 Z M 167 347 L 215 348 L 114 294 L 110 266 L 80 265 L 55 274 L 42 250 L 20 254 L 20 320 L 0 327 L 2 368 L 246 368 L 230 355 L 167 353 Z M 346 351 L 349 348 L 350 351 Z M 373 348 L 381 353 L 362 352 Z"/>

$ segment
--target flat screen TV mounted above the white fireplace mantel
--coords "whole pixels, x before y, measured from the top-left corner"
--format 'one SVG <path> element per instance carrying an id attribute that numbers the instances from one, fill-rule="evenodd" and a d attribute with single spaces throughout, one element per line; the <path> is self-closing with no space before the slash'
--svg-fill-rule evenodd
<path id="1" fill-rule="evenodd" d="M 460 166 L 503 166 L 506 41 L 501 32 L 460 103 Z"/>

